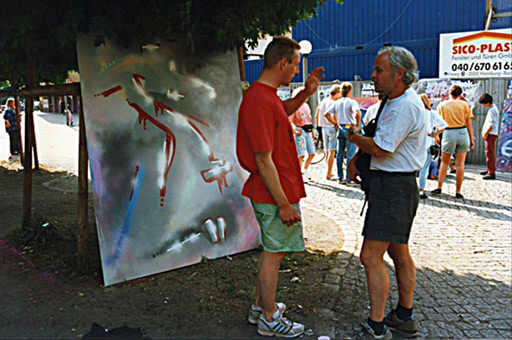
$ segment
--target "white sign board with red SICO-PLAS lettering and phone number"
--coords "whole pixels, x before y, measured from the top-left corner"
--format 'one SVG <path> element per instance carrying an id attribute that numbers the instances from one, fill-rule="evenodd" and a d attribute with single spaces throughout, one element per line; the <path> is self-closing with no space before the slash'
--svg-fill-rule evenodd
<path id="1" fill-rule="evenodd" d="M 439 78 L 511 78 L 512 28 L 441 34 Z"/>

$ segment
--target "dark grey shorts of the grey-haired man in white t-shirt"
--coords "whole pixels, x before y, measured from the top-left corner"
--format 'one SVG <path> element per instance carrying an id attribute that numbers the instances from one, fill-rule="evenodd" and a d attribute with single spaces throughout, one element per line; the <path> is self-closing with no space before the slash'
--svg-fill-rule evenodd
<path id="1" fill-rule="evenodd" d="M 407 244 L 419 201 L 414 174 L 372 171 L 363 236 Z"/>

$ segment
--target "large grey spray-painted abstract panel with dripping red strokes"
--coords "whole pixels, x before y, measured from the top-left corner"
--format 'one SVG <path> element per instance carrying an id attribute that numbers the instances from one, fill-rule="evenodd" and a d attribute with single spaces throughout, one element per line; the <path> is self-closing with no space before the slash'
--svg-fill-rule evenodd
<path id="1" fill-rule="evenodd" d="M 236 52 L 84 36 L 77 49 L 105 285 L 257 247 Z"/>

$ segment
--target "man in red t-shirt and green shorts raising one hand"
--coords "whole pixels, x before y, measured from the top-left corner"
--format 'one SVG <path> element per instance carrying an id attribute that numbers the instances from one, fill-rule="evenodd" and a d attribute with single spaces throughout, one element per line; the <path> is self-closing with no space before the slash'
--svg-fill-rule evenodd
<path id="1" fill-rule="evenodd" d="M 299 73 L 299 50 L 290 38 L 273 39 L 265 50 L 260 77 L 244 95 L 238 118 L 237 156 L 250 172 L 242 195 L 251 199 L 263 245 L 249 322 L 258 324 L 258 333 L 265 336 L 296 337 L 304 332 L 304 325 L 282 317 L 286 306 L 275 303 L 281 260 L 286 252 L 305 249 L 299 200 L 306 192 L 288 116 L 323 78 L 323 68 L 318 67 L 297 96 L 285 102 L 279 99 L 277 88 L 288 86 Z"/>

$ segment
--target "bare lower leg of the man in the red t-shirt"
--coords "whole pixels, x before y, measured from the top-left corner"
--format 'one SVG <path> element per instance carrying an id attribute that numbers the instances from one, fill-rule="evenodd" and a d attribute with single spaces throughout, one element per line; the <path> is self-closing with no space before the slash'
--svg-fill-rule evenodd
<path id="1" fill-rule="evenodd" d="M 272 315 L 276 311 L 277 278 L 279 276 L 279 264 L 284 255 L 285 253 L 269 253 L 266 251 L 262 251 L 260 255 L 254 305 L 261 305 L 263 317 L 269 322 L 273 321 Z"/>

